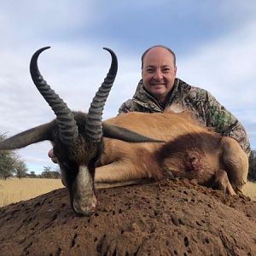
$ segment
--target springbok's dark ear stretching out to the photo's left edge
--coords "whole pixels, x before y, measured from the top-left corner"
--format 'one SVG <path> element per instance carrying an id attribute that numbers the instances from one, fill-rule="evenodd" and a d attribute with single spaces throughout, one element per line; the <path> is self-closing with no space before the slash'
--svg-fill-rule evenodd
<path id="1" fill-rule="evenodd" d="M 24 148 L 32 143 L 54 140 L 55 122 L 39 125 L 0 142 L 0 150 Z"/>

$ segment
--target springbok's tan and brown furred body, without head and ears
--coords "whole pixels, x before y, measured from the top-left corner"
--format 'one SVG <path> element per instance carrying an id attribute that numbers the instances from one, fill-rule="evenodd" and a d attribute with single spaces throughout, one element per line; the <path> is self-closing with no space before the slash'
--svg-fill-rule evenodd
<path id="1" fill-rule="evenodd" d="M 151 177 L 157 180 L 172 172 L 174 177 L 196 178 L 201 184 L 218 185 L 234 194 L 234 190 L 241 192 L 247 181 L 248 160 L 240 145 L 197 124 L 186 111 L 125 113 L 106 122 L 166 143 L 125 143 L 104 138 L 96 183 L 120 184 Z M 227 177 L 219 170 L 224 170 Z"/>

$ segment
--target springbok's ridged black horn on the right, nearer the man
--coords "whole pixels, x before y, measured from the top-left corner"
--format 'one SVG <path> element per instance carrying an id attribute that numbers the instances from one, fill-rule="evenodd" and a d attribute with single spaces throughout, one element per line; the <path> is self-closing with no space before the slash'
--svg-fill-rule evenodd
<path id="1" fill-rule="evenodd" d="M 104 79 L 102 86 L 96 92 L 96 96 L 93 98 L 90 103 L 89 112 L 87 114 L 86 125 L 85 125 L 85 134 L 92 142 L 98 143 L 102 138 L 102 111 L 105 105 L 105 102 L 108 98 L 109 91 L 113 85 L 113 81 L 116 77 L 118 69 L 117 57 L 114 54 L 112 49 L 103 48 L 108 50 L 111 54 L 112 62 L 111 67 L 109 68 L 108 75 Z"/>

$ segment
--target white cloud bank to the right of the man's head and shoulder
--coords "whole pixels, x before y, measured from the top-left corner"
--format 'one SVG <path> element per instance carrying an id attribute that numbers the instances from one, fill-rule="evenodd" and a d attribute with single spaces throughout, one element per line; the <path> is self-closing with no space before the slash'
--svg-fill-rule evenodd
<path id="1" fill-rule="evenodd" d="M 178 61 L 179 77 L 212 92 L 247 128 L 256 146 L 256 20 Z"/>

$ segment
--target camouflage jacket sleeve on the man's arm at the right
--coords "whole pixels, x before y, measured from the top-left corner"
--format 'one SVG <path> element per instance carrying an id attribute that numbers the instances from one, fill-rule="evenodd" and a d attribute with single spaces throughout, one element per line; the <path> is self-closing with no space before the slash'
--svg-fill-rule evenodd
<path id="1" fill-rule="evenodd" d="M 223 136 L 234 138 L 245 151 L 247 156 L 251 154 L 250 143 L 245 128 L 240 121 L 222 106 L 208 91 L 205 94 L 205 115 L 207 126 Z"/>

